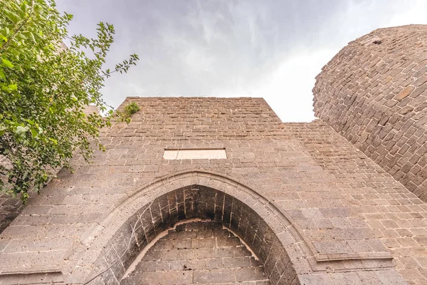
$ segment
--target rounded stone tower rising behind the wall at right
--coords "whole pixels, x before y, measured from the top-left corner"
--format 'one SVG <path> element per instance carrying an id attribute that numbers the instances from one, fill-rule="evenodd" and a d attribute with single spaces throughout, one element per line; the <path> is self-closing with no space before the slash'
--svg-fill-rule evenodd
<path id="1" fill-rule="evenodd" d="M 322 68 L 315 115 L 427 201 L 427 25 L 379 28 Z"/>

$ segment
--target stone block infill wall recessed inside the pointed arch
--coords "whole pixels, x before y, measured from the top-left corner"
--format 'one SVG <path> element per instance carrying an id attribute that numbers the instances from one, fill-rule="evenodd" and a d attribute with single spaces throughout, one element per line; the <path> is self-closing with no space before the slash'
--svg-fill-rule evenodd
<path id="1" fill-rule="evenodd" d="M 221 249 L 226 249 L 226 254 Z M 203 255 L 198 254 L 201 250 Z M 159 239 L 120 284 L 241 282 L 270 284 L 260 261 L 221 223 L 191 222 Z"/>

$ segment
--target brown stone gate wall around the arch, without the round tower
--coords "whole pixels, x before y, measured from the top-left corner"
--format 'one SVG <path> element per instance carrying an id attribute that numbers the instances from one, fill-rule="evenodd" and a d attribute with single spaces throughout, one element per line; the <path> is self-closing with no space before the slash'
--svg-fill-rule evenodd
<path id="1" fill-rule="evenodd" d="M 260 98 L 128 98 L 123 105 L 131 101 L 142 110 L 129 125 L 102 131 L 107 151 L 95 152 L 90 165 L 76 156 L 75 173 L 60 171 L 1 233 L 4 284 L 118 284 L 143 250 L 137 237 L 153 239 L 158 225 L 174 223 L 173 209 L 186 211 L 186 199 L 174 206 L 162 197 L 188 187 L 228 195 L 229 221 L 212 215 L 203 195 L 194 196 L 206 206 L 198 215 L 245 240 L 272 284 L 424 281 L 423 249 L 413 243 L 424 242 L 424 204 L 332 129 L 283 124 Z M 188 148 L 223 148 L 227 158 L 163 159 L 165 149 Z M 343 157 L 332 160 L 329 151 Z M 371 189 L 383 195 L 378 204 L 369 204 Z M 399 227 L 413 236 L 394 237 L 405 246 L 390 252 L 379 224 L 384 233 Z M 412 249 L 419 258 L 404 259 Z"/>

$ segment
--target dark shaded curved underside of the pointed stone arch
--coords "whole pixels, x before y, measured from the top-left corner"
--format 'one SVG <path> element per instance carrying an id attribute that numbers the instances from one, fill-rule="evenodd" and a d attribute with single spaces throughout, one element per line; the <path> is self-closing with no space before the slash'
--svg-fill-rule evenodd
<path id="1" fill-rule="evenodd" d="M 180 220 L 191 218 L 222 222 L 236 232 L 263 262 L 272 284 L 292 284 L 297 280 L 283 244 L 259 214 L 241 200 L 201 185 L 168 192 L 135 212 L 112 237 L 104 255 L 107 264 L 114 264 L 117 259 L 120 262 L 97 279 L 104 284 L 117 284 L 127 267 L 157 234 Z M 127 240 L 131 241 L 127 243 L 128 248 Z M 120 252 L 125 254 L 120 257 Z M 92 283 L 97 284 L 97 281 L 94 279 Z"/>

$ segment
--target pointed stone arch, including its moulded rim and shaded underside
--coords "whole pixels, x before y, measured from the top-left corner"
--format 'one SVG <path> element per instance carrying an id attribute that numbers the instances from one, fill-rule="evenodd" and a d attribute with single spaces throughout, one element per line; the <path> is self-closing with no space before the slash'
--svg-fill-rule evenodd
<path id="1" fill-rule="evenodd" d="M 169 175 L 131 193 L 82 246 L 86 253 L 70 283 L 80 276 L 82 283 L 117 284 L 147 244 L 194 218 L 220 222 L 237 234 L 259 258 L 270 284 L 298 283 L 291 259 L 306 258 L 301 248 L 307 244 L 288 217 L 245 185 L 200 170 Z"/>

